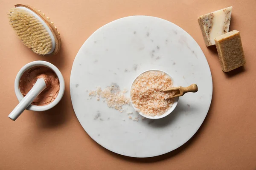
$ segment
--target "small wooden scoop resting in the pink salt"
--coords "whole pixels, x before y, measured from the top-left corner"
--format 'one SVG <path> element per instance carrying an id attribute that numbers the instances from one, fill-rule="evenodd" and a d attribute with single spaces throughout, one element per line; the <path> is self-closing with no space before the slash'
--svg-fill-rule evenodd
<path id="1" fill-rule="evenodd" d="M 171 97 L 168 97 L 167 99 L 172 99 L 174 97 L 179 97 L 179 96 L 183 96 L 185 93 L 188 93 L 188 92 L 192 92 L 192 93 L 195 93 L 198 91 L 198 87 L 196 84 L 192 84 L 188 87 L 174 87 L 174 88 L 169 88 L 169 89 L 166 89 L 166 90 L 163 90 L 162 92 L 172 92 L 172 91 L 175 91 L 175 94 Z"/>

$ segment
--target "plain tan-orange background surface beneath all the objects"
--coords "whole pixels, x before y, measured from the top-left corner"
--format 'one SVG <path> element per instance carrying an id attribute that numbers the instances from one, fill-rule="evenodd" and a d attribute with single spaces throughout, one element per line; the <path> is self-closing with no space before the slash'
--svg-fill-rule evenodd
<path id="1" fill-rule="evenodd" d="M 58 27 L 62 47 L 56 56 L 38 56 L 17 38 L 6 15 L 17 3 L 41 9 Z M 197 18 L 228 6 L 230 30 L 241 31 L 247 64 L 225 74 L 215 46 L 204 45 Z M 255 7 L 256 0 L 0 0 L 0 170 L 256 170 Z M 183 28 L 212 71 L 212 105 L 203 125 L 182 147 L 154 158 L 129 158 L 101 147 L 79 124 L 70 100 L 70 71 L 81 45 L 97 28 L 130 15 L 160 17 Z M 18 103 L 16 74 L 34 60 L 61 70 L 63 99 L 49 111 L 25 111 L 12 122 L 7 116 Z"/>

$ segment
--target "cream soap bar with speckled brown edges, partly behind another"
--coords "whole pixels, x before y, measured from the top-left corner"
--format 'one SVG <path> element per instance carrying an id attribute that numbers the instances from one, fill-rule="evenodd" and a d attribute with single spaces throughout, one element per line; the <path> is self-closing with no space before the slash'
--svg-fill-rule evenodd
<path id="1" fill-rule="evenodd" d="M 198 18 L 204 43 L 207 47 L 215 45 L 214 38 L 229 30 L 232 6 L 202 15 Z"/>

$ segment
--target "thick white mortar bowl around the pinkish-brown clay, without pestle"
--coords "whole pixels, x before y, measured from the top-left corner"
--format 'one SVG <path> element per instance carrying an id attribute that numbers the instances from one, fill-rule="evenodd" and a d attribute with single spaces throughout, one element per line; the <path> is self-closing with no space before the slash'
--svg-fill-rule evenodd
<path id="1" fill-rule="evenodd" d="M 64 94 L 64 89 L 65 89 L 64 78 L 63 78 L 61 72 L 59 71 L 59 69 L 55 65 L 53 65 L 49 62 L 46 62 L 46 61 L 33 61 L 33 62 L 29 62 L 28 64 L 24 65 L 23 68 L 20 69 L 20 71 L 18 72 L 18 74 L 15 78 L 15 83 L 14 83 L 15 94 L 19 101 L 21 101 L 23 99 L 23 95 L 21 94 L 20 89 L 19 89 L 20 77 L 29 68 L 32 68 L 35 66 L 45 66 L 45 67 L 52 69 L 52 71 L 54 71 L 56 73 L 56 75 L 59 79 L 59 82 L 60 82 L 59 94 L 53 102 L 49 103 L 48 105 L 44 105 L 44 106 L 29 105 L 29 107 L 26 108 L 26 110 L 29 110 L 29 111 L 47 111 L 50 108 L 53 108 L 55 105 L 58 104 L 58 102 L 61 100 L 61 98 Z"/>

